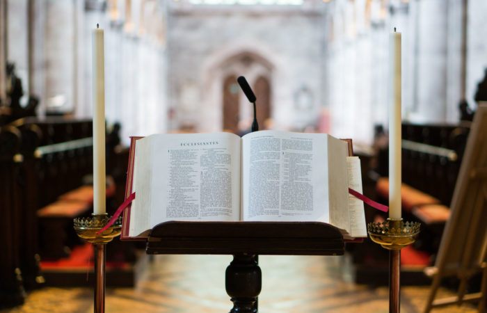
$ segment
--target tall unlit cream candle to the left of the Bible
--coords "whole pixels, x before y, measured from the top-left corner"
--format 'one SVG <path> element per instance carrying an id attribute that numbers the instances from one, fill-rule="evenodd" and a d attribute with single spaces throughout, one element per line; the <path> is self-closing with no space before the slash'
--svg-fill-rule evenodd
<path id="1" fill-rule="evenodd" d="M 103 29 L 93 30 L 93 213 L 105 213 L 105 71 Z"/>

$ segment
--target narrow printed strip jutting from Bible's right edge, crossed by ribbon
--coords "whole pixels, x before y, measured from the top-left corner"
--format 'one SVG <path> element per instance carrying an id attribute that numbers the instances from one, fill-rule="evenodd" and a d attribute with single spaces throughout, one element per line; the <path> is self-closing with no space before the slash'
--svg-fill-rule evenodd
<path id="1" fill-rule="evenodd" d="M 349 188 L 362 193 L 362 172 L 360 172 L 360 159 L 347 157 L 346 164 L 349 172 Z M 350 228 L 352 237 L 367 237 L 365 225 L 364 202 L 349 194 Z"/>

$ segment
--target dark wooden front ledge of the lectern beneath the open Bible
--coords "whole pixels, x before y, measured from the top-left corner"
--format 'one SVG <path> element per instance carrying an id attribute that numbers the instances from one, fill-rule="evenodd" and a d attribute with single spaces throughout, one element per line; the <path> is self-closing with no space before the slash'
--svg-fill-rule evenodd
<path id="1" fill-rule="evenodd" d="M 175 222 L 155 226 L 149 254 L 343 255 L 337 227 L 317 222 Z"/>

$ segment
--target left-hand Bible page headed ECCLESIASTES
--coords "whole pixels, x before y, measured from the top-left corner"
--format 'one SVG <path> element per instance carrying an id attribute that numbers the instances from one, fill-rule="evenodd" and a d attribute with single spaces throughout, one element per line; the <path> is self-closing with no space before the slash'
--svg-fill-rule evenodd
<path id="1" fill-rule="evenodd" d="M 168 220 L 239 220 L 240 137 L 157 134 L 150 141 L 150 228 Z M 138 188 L 136 199 L 138 199 Z"/>

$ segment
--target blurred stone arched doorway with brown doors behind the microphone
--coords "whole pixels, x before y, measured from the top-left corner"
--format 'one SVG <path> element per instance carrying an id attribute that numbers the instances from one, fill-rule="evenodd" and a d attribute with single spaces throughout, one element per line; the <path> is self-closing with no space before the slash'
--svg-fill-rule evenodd
<path id="1" fill-rule="evenodd" d="M 266 93 L 268 96 L 264 97 L 261 95 L 257 102 L 261 102 L 261 98 L 262 103 L 269 102 L 269 113 L 263 113 L 264 117 L 260 117 L 260 119 L 263 119 L 259 120 L 260 129 L 264 129 L 264 121 L 268 117 L 271 117 L 276 125 L 280 125 L 282 117 L 285 116 L 282 112 L 292 106 L 292 89 L 289 88 L 289 81 L 292 81 L 292 79 L 289 79 L 291 77 L 289 67 L 278 51 L 267 47 L 265 42 L 253 40 L 229 42 L 227 45 L 216 49 L 214 54 L 205 59 L 202 74 L 204 85 L 202 86 L 201 102 L 207 110 L 202 111 L 202 119 L 200 119 L 198 129 L 211 131 L 234 129 L 234 126 L 232 126 L 234 122 L 230 122 L 231 118 L 225 122 L 226 118 L 224 117 L 224 115 L 228 115 L 225 111 L 230 109 L 225 109 L 224 104 L 224 98 L 230 96 L 229 94 L 224 95 L 228 77 L 244 76 L 252 88 L 255 88 L 259 77 L 266 79 L 266 85 L 269 85 L 266 88 L 269 89 L 269 93 Z M 252 104 L 249 104 L 238 84 L 236 86 L 238 88 L 237 94 L 239 95 L 239 123 L 237 124 L 241 126 L 238 132 L 242 133 L 246 129 L 250 129 L 253 109 Z M 254 92 L 257 93 L 256 90 Z M 276 111 L 271 109 L 271 106 L 276 101 L 279 101 L 280 106 L 284 108 L 279 115 L 276 115 Z M 266 106 L 266 104 L 257 105 Z M 265 112 L 267 110 L 257 109 L 257 112 L 259 111 Z"/>

